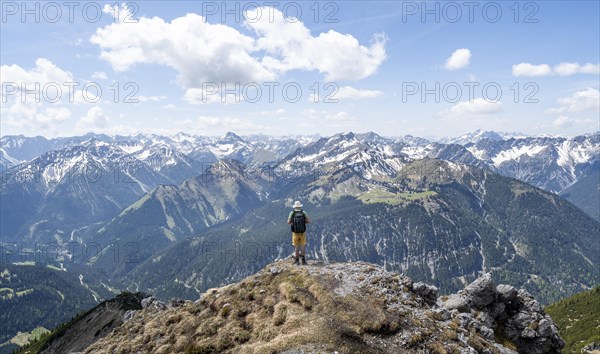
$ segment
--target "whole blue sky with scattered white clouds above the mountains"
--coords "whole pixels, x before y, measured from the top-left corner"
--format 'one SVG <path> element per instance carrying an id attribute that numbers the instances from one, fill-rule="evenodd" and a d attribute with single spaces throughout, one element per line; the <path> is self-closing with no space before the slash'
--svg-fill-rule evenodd
<path id="1" fill-rule="evenodd" d="M 0 135 L 574 136 L 599 1 L 1 1 Z"/>

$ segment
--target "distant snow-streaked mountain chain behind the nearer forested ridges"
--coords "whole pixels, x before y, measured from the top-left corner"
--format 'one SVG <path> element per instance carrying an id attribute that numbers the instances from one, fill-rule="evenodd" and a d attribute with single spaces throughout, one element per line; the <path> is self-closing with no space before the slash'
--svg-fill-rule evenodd
<path id="1" fill-rule="evenodd" d="M 405 159 L 429 157 L 487 168 L 563 193 L 596 220 L 599 217 L 594 206 L 600 203 L 600 192 L 593 186 L 598 186 L 594 176 L 600 171 L 600 133 L 567 139 L 478 131 L 446 139 L 447 143 L 412 136 L 384 138 L 375 133 L 355 138 Z M 298 148 L 345 148 L 335 142 L 321 146 L 328 140 L 315 136 L 242 138 L 234 133 L 221 138 L 184 133 L 55 139 L 4 136 L 0 139 L 0 193 L 11 207 L 2 208 L 2 219 L 10 221 L 2 224 L 0 232 L 6 241 L 64 242 L 76 237 L 79 228 L 106 221 L 156 186 L 179 184 L 217 160 L 274 165 L 291 158 Z M 304 168 L 317 169 L 311 156 L 304 162 Z"/>

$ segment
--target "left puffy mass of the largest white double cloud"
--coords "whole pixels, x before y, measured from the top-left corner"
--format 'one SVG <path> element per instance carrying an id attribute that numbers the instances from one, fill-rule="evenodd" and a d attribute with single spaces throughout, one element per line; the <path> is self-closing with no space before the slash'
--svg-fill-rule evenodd
<path id="1" fill-rule="evenodd" d="M 102 49 L 100 57 L 117 71 L 136 64 L 156 63 L 174 68 L 184 87 L 204 81 L 274 79 L 252 57 L 253 39 L 222 24 L 209 24 L 188 13 L 165 22 L 142 17 L 136 24 L 112 23 L 96 30 L 90 41 Z"/>

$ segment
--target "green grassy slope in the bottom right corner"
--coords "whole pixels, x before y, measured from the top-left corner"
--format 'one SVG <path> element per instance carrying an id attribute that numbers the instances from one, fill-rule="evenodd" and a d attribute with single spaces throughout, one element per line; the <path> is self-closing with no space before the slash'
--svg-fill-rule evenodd
<path id="1" fill-rule="evenodd" d="M 600 345 L 600 286 L 558 301 L 546 312 L 565 340 L 564 353 L 581 353 L 590 343 Z"/>

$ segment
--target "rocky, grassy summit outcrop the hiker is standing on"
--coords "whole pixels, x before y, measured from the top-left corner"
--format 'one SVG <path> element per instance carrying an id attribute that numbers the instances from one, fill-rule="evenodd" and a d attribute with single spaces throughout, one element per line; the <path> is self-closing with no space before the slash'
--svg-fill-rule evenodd
<path id="1" fill-rule="evenodd" d="M 364 263 L 278 261 L 196 301 L 140 301 L 85 353 L 560 353 L 552 319 L 484 275 L 457 294 Z"/>

